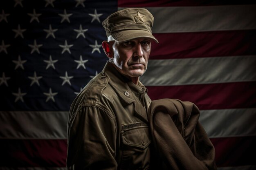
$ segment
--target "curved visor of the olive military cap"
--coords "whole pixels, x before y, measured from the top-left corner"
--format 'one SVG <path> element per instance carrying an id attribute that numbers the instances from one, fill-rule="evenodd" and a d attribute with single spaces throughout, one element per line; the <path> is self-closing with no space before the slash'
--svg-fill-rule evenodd
<path id="1" fill-rule="evenodd" d="M 155 42 L 158 43 L 157 39 L 150 32 L 144 30 L 126 30 L 113 33 L 111 35 L 118 42 L 126 42 L 135 38 L 147 37 L 155 40 Z"/>

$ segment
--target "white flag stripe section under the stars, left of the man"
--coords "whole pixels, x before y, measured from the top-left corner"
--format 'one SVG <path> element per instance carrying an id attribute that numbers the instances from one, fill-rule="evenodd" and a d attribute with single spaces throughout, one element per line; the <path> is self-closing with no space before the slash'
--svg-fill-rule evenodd
<path id="1" fill-rule="evenodd" d="M 67 115 L 67 111 L 0 111 L 0 139 L 67 139 Z"/>

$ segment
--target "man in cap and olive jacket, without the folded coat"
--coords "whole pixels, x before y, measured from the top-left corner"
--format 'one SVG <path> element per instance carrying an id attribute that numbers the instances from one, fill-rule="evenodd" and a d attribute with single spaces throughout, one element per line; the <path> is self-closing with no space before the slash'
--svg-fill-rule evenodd
<path id="1" fill-rule="evenodd" d="M 67 169 L 150 168 L 147 110 L 150 98 L 139 81 L 146 71 L 153 15 L 146 9 L 117 11 L 103 21 L 109 62 L 76 97 L 68 119 Z"/>

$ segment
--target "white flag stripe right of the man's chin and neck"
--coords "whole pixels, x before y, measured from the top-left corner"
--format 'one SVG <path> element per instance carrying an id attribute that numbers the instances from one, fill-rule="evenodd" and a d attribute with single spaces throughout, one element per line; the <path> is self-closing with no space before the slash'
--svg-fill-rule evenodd
<path id="1" fill-rule="evenodd" d="M 144 86 L 256 81 L 256 55 L 149 60 Z"/>

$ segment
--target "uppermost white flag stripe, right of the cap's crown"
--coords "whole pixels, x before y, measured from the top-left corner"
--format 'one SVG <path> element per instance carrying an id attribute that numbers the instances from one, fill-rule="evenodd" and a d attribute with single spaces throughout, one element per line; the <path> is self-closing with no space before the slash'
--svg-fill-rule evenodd
<path id="1" fill-rule="evenodd" d="M 155 18 L 153 33 L 256 29 L 255 4 L 145 8 Z"/>

